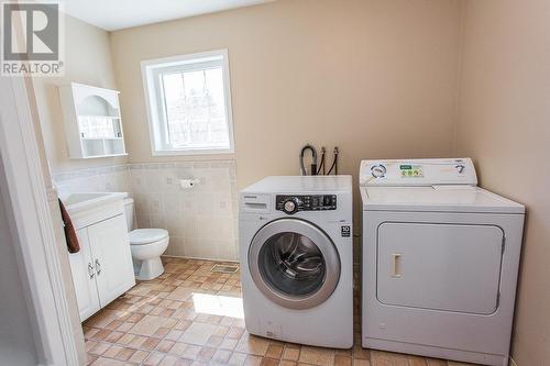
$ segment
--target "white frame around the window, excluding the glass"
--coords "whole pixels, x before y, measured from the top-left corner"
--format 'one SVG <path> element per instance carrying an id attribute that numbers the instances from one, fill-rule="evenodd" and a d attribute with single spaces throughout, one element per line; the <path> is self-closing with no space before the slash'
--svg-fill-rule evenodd
<path id="1" fill-rule="evenodd" d="M 165 120 L 165 109 L 162 107 L 164 103 L 163 90 L 160 88 L 158 75 L 167 69 L 179 69 L 186 62 L 191 69 L 193 64 L 207 64 L 218 63 L 216 58 L 221 57 L 221 70 L 223 80 L 223 97 L 226 106 L 226 121 L 228 124 L 229 134 L 229 148 L 169 148 L 167 141 L 167 121 Z M 202 60 L 201 60 L 202 59 Z M 197 69 L 205 69 L 198 67 Z M 233 112 L 231 108 L 231 85 L 229 75 L 229 54 L 228 49 L 216 49 L 209 52 L 194 53 L 177 55 L 170 57 L 162 57 L 154 59 L 146 59 L 141 62 L 143 91 L 145 98 L 145 106 L 147 109 L 147 125 L 151 142 L 152 156 L 174 156 L 174 155 L 233 155 L 234 149 L 234 134 L 233 134 Z"/>

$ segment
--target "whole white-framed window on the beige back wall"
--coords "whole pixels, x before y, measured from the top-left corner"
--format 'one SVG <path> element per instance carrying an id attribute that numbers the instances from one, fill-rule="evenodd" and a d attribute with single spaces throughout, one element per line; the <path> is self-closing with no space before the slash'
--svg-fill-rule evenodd
<path id="1" fill-rule="evenodd" d="M 142 62 L 153 155 L 233 153 L 228 52 Z"/>

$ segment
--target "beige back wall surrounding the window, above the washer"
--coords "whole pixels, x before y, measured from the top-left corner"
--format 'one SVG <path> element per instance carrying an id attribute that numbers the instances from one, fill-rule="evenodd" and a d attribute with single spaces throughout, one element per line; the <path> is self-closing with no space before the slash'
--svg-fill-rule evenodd
<path id="1" fill-rule="evenodd" d="M 140 62 L 228 48 L 237 177 L 298 174 L 306 143 L 362 158 L 453 153 L 460 1 L 279 0 L 113 32 L 132 162 L 151 156 Z"/>

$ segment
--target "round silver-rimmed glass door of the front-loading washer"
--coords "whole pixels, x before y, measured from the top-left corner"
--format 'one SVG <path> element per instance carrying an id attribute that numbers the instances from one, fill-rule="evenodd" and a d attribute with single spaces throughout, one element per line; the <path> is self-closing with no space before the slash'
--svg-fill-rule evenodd
<path id="1" fill-rule="evenodd" d="M 340 278 L 340 258 L 330 237 L 298 219 L 280 219 L 263 226 L 252 241 L 249 266 L 256 287 L 292 309 L 322 303 Z"/>

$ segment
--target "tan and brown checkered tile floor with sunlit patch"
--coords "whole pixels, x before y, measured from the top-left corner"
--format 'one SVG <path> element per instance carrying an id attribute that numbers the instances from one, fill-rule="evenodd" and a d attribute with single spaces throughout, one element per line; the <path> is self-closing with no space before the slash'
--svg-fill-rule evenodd
<path id="1" fill-rule="evenodd" d="M 359 315 L 352 350 L 250 335 L 240 307 L 239 274 L 215 273 L 216 263 L 208 260 L 163 262 L 165 273 L 160 278 L 140 282 L 84 323 L 89 365 L 465 365 L 363 350 Z"/>

